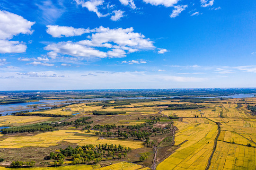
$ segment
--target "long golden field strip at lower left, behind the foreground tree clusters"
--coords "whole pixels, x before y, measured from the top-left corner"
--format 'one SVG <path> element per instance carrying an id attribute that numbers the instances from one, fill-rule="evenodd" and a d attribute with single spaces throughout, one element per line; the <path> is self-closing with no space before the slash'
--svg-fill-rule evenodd
<path id="1" fill-rule="evenodd" d="M 44 132 L 35 136 L 1 137 L 0 148 L 21 148 L 28 146 L 49 147 L 58 145 L 59 142 L 66 141 L 72 144 L 122 144 L 132 149 L 141 148 L 142 142 L 123 141 L 115 139 L 98 139 L 95 136 L 88 136 L 88 133 L 80 130 L 58 130 Z"/>

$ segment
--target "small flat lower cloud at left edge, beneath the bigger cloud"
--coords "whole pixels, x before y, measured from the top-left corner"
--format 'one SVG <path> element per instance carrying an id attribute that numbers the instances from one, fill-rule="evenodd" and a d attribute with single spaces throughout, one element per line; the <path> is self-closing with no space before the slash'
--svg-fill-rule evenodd
<path id="1" fill-rule="evenodd" d="M 18 41 L 0 40 L 0 53 L 26 52 L 26 45 Z"/>

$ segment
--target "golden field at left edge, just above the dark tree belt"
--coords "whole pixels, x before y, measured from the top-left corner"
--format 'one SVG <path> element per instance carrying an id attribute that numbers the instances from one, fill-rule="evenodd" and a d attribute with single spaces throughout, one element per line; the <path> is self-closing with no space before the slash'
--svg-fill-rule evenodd
<path id="1" fill-rule="evenodd" d="M 1 116 L 0 117 L 0 127 L 1 126 L 21 126 L 26 124 L 35 124 L 44 121 L 59 120 L 60 118 L 52 117 L 40 117 L 40 116 Z"/>

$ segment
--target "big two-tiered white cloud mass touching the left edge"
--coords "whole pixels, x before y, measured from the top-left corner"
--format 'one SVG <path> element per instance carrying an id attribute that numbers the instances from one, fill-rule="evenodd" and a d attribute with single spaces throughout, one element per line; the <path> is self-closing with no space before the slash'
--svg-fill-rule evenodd
<path id="1" fill-rule="evenodd" d="M 0 53 L 21 53 L 26 51 L 26 45 L 19 41 L 9 41 L 18 34 L 32 34 L 30 22 L 21 16 L 0 10 Z"/>

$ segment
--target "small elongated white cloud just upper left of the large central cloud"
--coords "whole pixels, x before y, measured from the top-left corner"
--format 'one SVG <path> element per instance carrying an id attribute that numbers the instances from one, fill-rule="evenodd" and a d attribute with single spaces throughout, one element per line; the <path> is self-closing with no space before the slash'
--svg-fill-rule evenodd
<path id="1" fill-rule="evenodd" d="M 46 33 L 53 37 L 71 37 L 89 33 L 89 29 L 73 28 L 72 26 L 47 26 Z"/>

